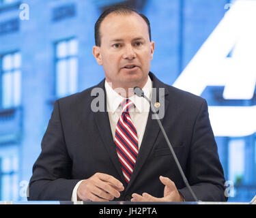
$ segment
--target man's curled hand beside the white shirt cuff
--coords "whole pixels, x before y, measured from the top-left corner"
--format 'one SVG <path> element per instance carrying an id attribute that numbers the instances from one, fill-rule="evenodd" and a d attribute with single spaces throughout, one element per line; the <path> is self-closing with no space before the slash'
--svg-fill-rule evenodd
<path id="1" fill-rule="evenodd" d="M 108 174 L 97 172 L 79 185 L 77 199 L 107 202 L 119 198 L 119 191 L 124 191 L 120 181 Z"/>

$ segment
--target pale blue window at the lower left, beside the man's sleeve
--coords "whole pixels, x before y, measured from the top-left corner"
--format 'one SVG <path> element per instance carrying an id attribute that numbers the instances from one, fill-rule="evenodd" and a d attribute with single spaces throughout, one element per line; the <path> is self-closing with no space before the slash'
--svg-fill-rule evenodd
<path id="1" fill-rule="evenodd" d="M 18 153 L 16 149 L 0 151 L 0 199 L 18 200 Z"/>

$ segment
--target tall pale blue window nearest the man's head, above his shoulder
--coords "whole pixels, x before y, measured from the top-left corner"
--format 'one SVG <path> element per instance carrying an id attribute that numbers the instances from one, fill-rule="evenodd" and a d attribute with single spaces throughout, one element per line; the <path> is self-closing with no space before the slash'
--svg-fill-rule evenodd
<path id="1" fill-rule="evenodd" d="M 78 74 L 78 41 L 76 38 L 55 44 L 55 78 L 57 97 L 76 93 Z"/>

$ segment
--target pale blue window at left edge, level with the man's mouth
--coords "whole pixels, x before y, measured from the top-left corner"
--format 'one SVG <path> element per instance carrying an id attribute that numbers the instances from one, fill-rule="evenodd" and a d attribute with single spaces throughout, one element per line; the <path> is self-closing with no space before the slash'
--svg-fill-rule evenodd
<path id="1" fill-rule="evenodd" d="M 20 105 L 21 55 L 12 52 L 1 56 L 1 108 Z"/>

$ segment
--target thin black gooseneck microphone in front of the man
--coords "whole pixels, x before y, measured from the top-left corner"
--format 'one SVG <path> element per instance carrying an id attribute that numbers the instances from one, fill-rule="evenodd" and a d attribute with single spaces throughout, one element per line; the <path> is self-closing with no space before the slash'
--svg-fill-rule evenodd
<path id="1" fill-rule="evenodd" d="M 182 167 L 180 166 L 180 162 L 178 161 L 177 156 L 175 155 L 175 152 L 173 151 L 173 146 L 171 146 L 171 142 L 169 141 L 169 139 L 168 139 L 168 137 L 167 137 L 167 134 L 166 134 L 166 132 L 165 132 L 164 127 L 162 127 L 162 123 L 160 122 L 160 119 L 159 119 L 159 117 L 158 117 L 158 114 L 156 114 L 156 110 L 155 110 L 155 108 L 154 108 L 152 102 L 150 101 L 150 99 L 148 99 L 148 98 L 144 95 L 144 92 L 143 92 L 143 90 L 142 90 L 140 87 L 134 87 L 134 88 L 133 88 L 133 92 L 134 92 L 134 94 L 137 95 L 138 97 L 144 97 L 144 98 L 147 100 L 147 102 L 150 103 L 150 106 L 151 106 L 151 108 L 152 108 L 154 114 L 156 115 L 156 121 L 158 122 L 158 125 L 160 126 L 160 129 L 161 129 L 161 131 L 162 131 L 162 134 L 165 136 L 165 140 L 166 140 L 166 142 L 167 142 L 167 144 L 168 144 L 168 146 L 169 146 L 169 149 L 171 150 L 171 154 L 173 155 L 173 158 L 174 158 L 174 160 L 175 160 L 175 163 L 176 163 L 176 165 L 177 165 L 177 168 L 180 170 L 180 174 L 182 175 L 182 179 L 183 179 L 183 181 L 184 181 L 186 187 L 187 187 L 188 190 L 190 191 L 191 195 L 193 196 L 194 200 L 195 200 L 196 202 L 199 202 L 199 200 L 197 199 L 197 196 L 195 196 L 194 191 L 191 189 L 190 185 L 188 184 L 188 180 L 186 179 L 186 176 L 185 176 L 185 174 L 184 174 L 184 172 L 183 172 L 183 170 L 182 170 Z"/>

